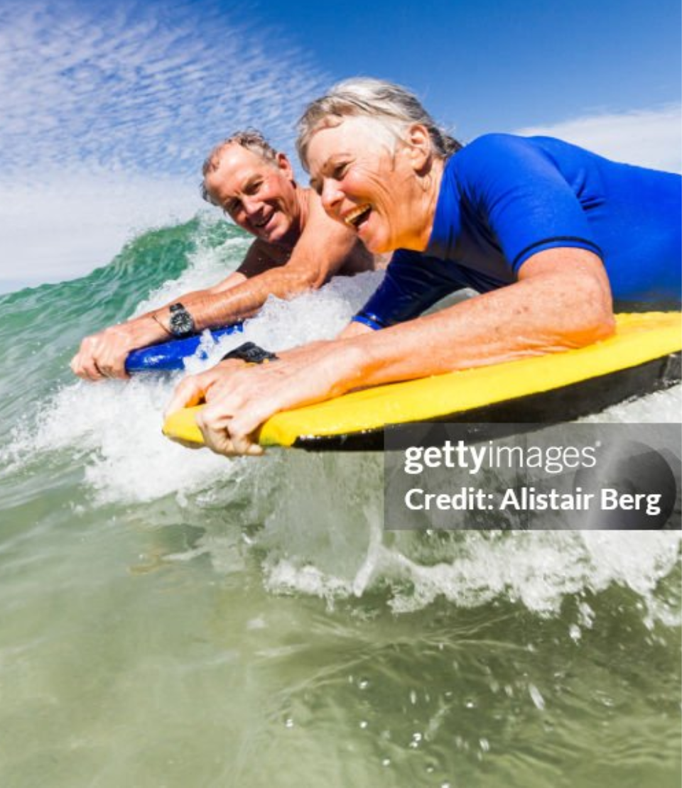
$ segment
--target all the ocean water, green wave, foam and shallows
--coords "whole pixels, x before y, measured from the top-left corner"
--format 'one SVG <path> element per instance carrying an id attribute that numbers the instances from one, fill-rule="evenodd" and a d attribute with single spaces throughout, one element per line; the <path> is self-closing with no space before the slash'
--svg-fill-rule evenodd
<path id="1" fill-rule="evenodd" d="M 190 452 L 177 377 L 71 376 L 247 244 L 197 219 L 0 297 L 0 786 L 679 786 L 680 533 L 386 533 L 378 455 Z M 246 337 L 332 336 L 377 281 Z"/>

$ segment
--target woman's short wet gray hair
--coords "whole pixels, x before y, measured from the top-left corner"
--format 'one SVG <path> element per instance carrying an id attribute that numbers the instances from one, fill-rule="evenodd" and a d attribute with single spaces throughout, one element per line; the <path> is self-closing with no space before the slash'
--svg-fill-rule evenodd
<path id="1" fill-rule="evenodd" d="M 308 169 L 307 147 L 311 137 L 321 128 L 339 125 L 345 117 L 371 117 L 398 139 L 403 138 L 409 126 L 423 125 L 439 158 L 448 158 L 462 147 L 436 124 L 416 95 L 406 88 L 359 76 L 334 85 L 326 95 L 308 104 L 300 117 L 296 150 L 305 169 Z"/>

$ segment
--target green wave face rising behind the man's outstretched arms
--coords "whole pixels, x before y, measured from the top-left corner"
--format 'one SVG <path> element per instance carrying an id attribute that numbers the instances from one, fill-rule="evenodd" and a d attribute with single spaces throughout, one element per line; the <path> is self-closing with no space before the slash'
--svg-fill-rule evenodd
<path id="1" fill-rule="evenodd" d="M 86 277 L 0 296 L 0 414 L 16 418 L 27 400 L 73 378 L 80 340 L 129 317 L 166 281 L 177 279 L 199 244 L 214 248 L 242 231 L 196 217 L 143 232 Z"/>

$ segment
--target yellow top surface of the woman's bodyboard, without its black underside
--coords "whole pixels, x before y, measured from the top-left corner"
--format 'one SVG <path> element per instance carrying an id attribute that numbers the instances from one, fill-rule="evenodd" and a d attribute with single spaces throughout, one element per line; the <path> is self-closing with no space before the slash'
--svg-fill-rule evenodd
<path id="1" fill-rule="evenodd" d="M 443 420 L 455 415 L 462 420 L 468 411 L 580 384 L 680 351 L 679 312 L 619 314 L 616 320 L 613 336 L 587 348 L 366 388 L 283 411 L 265 422 L 259 443 L 293 446 L 296 441 L 367 433 L 408 422 Z M 200 407 L 170 414 L 164 434 L 188 443 L 202 443 L 195 421 Z"/>

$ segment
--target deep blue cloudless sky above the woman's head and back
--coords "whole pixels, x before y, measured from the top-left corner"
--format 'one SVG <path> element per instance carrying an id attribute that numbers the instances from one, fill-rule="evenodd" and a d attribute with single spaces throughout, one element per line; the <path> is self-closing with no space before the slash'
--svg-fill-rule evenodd
<path id="1" fill-rule="evenodd" d="M 336 79 L 414 87 L 464 136 L 680 101 L 677 0 L 261 2 Z"/>

